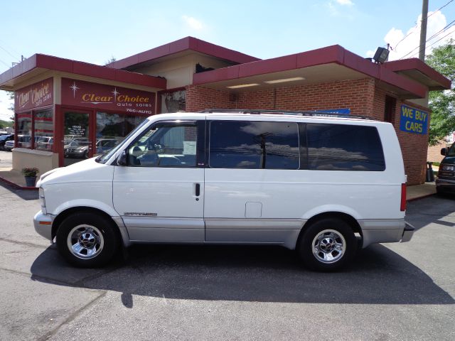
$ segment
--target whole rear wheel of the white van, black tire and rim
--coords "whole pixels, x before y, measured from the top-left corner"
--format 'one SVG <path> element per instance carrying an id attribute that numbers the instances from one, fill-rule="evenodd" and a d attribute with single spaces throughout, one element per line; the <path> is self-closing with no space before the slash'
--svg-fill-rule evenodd
<path id="1" fill-rule="evenodd" d="M 358 241 L 347 222 L 323 218 L 306 227 L 297 252 L 304 265 L 314 271 L 336 271 L 348 265 Z"/>

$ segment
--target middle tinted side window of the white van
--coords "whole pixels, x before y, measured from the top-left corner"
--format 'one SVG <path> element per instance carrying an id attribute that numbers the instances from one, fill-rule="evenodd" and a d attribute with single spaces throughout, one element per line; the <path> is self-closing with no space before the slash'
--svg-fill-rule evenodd
<path id="1" fill-rule="evenodd" d="M 210 168 L 298 169 L 299 128 L 293 122 L 211 121 Z"/>

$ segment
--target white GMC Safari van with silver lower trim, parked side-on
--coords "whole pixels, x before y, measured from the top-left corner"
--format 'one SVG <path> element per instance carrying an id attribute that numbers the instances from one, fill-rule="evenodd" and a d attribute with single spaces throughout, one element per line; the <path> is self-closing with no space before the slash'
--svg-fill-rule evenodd
<path id="1" fill-rule="evenodd" d="M 411 239 L 405 183 L 388 123 L 159 114 L 104 155 L 43 174 L 34 224 L 75 266 L 102 266 L 134 243 L 273 244 L 332 271 L 358 247 Z"/>

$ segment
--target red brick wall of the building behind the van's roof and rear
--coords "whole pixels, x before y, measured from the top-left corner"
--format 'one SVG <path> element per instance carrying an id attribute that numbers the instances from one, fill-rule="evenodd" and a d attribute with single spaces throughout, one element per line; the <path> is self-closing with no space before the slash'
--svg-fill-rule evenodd
<path id="1" fill-rule="evenodd" d="M 352 115 L 373 117 L 380 121 L 385 117 L 385 96 L 397 98 L 375 84 L 373 78 L 343 80 L 298 87 L 251 91 L 235 95 L 228 90 L 213 90 L 200 85 L 186 87 L 186 111 L 198 112 L 208 108 L 227 109 L 287 109 L 319 110 L 349 108 Z M 408 185 L 424 183 L 427 162 L 428 136 L 400 131 L 400 107 L 409 105 L 429 112 L 429 109 L 397 99 L 392 124 L 405 161 Z"/>

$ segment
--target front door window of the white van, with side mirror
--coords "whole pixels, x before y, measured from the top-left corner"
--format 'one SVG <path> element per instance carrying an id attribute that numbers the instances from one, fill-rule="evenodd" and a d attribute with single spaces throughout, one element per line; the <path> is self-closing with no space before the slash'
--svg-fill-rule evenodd
<path id="1" fill-rule="evenodd" d="M 196 167 L 196 124 L 163 123 L 151 126 L 128 148 L 128 165 Z"/>

